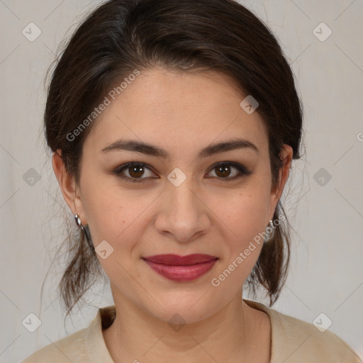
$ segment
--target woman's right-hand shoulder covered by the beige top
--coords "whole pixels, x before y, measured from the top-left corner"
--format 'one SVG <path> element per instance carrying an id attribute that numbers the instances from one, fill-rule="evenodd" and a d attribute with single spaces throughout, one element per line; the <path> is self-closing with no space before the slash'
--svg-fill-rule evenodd
<path id="1" fill-rule="evenodd" d="M 333 332 L 323 329 L 320 331 L 312 323 L 279 313 L 262 303 L 245 302 L 269 315 L 272 328 L 272 363 L 362 363 L 352 347 Z"/>

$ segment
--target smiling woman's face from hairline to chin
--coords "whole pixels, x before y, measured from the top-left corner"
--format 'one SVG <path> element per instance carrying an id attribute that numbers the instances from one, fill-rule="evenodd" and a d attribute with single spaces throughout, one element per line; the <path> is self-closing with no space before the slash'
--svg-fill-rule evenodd
<path id="1" fill-rule="evenodd" d="M 286 169 L 272 190 L 267 130 L 257 112 L 240 106 L 244 98 L 216 73 L 148 69 L 94 121 L 78 194 L 65 198 L 89 225 L 116 306 L 128 301 L 162 320 L 178 313 L 192 323 L 240 298 L 263 240 L 244 251 L 272 219 L 292 155 L 286 146 Z M 213 147 L 232 140 L 247 146 Z M 130 141 L 147 146 L 123 147 Z M 215 260 L 145 261 L 165 254 Z"/>

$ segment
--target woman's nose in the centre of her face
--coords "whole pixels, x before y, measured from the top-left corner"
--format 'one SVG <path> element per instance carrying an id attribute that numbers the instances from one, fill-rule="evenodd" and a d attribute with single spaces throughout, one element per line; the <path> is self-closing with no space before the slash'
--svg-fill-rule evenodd
<path id="1" fill-rule="evenodd" d="M 162 193 L 155 228 L 179 242 L 189 242 L 206 233 L 211 226 L 208 207 L 198 191 L 184 181 L 179 186 L 169 183 Z"/>

